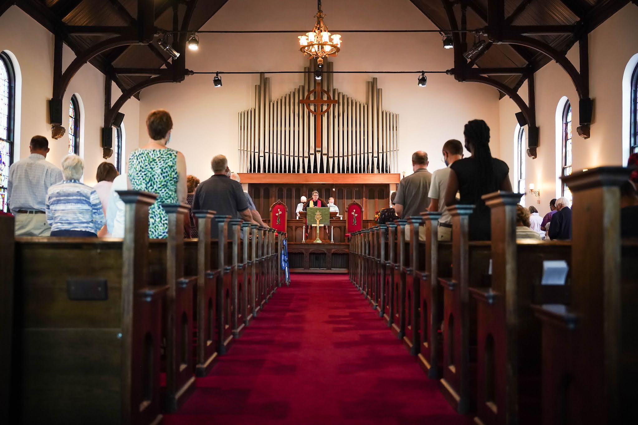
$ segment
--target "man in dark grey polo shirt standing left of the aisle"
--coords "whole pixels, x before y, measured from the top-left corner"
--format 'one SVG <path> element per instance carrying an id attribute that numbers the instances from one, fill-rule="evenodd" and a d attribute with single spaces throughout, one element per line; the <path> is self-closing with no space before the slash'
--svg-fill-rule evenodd
<path id="1" fill-rule="evenodd" d="M 248 202 L 241 184 L 228 178 L 228 160 L 224 155 L 216 155 L 211 161 L 211 178 L 200 183 L 195 190 L 193 211 L 212 210 L 216 215 L 230 215 L 233 219 L 251 221 Z M 218 226 L 211 226 L 211 237 L 217 238 Z"/>

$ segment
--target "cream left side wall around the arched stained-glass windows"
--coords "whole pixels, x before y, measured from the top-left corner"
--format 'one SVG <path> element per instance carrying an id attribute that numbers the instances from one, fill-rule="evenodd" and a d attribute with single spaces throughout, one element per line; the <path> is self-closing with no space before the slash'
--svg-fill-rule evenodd
<path id="1" fill-rule="evenodd" d="M 84 182 L 95 184 L 98 164 L 103 161 L 100 129 L 104 120 L 104 75 L 90 64 L 85 64 L 73 77 L 64 94 L 63 126 L 64 136 L 58 140 L 51 138 L 48 124 L 47 101 L 53 87 L 54 36 L 17 6 L 0 16 L 0 51 L 9 50 L 15 55 L 22 73 L 22 97 L 20 99 L 20 140 L 14 160 L 29 155 L 29 140 L 35 134 L 46 136 L 51 151 L 47 160 L 60 166 L 68 150 L 68 103 L 73 94 L 78 94 L 84 106 L 82 132 L 84 134 L 80 155 L 84 157 Z M 63 69 L 75 59 L 75 55 L 64 45 Z M 115 85 L 114 85 L 115 87 Z M 115 87 L 112 99 L 120 92 Z M 139 102 L 131 99 L 121 110 L 126 115 L 126 155 L 138 147 Z M 18 113 L 18 111 L 17 111 Z M 112 157 L 109 161 L 113 161 Z"/>

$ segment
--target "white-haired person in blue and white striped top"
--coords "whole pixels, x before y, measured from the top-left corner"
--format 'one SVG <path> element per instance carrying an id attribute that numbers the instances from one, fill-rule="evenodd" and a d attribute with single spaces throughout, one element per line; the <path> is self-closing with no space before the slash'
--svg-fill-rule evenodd
<path id="1" fill-rule="evenodd" d="M 51 236 L 98 236 L 104 225 L 100 196 L 93 187 L 80 182 L 84 161 L 78 155 L 62 160 L 64 180 L 49 187 L 45 212 Z"/>

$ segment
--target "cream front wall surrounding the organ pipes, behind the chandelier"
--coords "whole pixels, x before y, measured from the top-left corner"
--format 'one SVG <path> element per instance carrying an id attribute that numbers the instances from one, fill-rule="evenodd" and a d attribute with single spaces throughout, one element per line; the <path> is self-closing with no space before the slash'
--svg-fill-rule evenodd
<path id="1" fill-rule="evenodd" d="M 329 29 L 435 29 L 409 1 L 393 2 L 390 13 L 383 0 L 324 0 Z M 202 29 L 306 29 L 316 13 L 314 3 L 281 0 L 233 0 Z M 300 71 L 307 66 L 299 52 L 299 34 L 200 34 L 200 50 L 187 52 L 193 71 Z M 428 71 L 452 68 L 453 52 L 443 49 L 433 34 L 343 33 L 334 69 Z M 378 49 L 378 52 L 375 50 Z M 491 127 L 492 149 L 499 151 L 499 102 L 496 89 L 479 83 L 460 84 L 448 75 L 429 75 L 427 87 L 417 86 L 418 74 L 335 75 L 334 87 L 361 101 L 366 81 L 378 77 L 383 108 L 400 116 L 399 170 L 412 173 L 410 158 L 426 150 L 429 169 L 443 168 L 441 147 L 446 140 L 463 140 L 463 125 L 484 119 Z M 273 99 L 302 84 L 302 75 L 270 75 Z M 148 139 L 144 120 L 155 108 L 167 109 L 174 120 L 170 147 L 186 156 L 188 173 L 199 178 L 211 174 L 210 160 L 225 154 L 232 169 L 239 168 L 237 113 L 253 103 L 258 75 L 223 75 L 223 87 L 212 86 L 212 75 L 188 76 L 179 84 L 159 84 L 140 96 L 140 141 Z"/>

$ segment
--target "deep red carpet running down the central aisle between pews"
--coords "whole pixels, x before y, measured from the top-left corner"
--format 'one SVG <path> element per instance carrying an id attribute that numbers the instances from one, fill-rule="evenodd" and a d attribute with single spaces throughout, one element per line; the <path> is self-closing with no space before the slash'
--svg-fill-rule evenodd
<path id="1" fill-rule="evenodd" d="M 346 275 L 293 275 L 167 425 L 470 424 Z"/>

